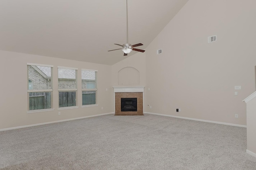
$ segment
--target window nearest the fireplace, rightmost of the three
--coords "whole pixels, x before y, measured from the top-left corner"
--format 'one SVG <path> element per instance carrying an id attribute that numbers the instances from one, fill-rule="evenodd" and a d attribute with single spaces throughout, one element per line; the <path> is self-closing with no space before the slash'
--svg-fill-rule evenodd
<path id="1" fill-rule="evenodd" d="M 82 106 L 95 105 L 97 94 L 97 70 L 82 69 Z"/>

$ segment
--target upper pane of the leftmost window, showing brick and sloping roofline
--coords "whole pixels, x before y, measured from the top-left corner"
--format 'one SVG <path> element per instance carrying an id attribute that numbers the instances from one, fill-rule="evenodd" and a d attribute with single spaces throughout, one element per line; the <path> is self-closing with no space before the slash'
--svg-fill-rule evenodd
<path id="1" fill-rule="evenodd" d="M 52 89 L 52 67 L 28 65 L 28 90 Z"/>

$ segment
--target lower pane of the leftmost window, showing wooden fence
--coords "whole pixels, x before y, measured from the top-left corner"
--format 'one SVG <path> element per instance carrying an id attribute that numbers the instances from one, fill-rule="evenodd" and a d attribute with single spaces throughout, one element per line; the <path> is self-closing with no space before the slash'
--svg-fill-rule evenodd
<path id="1" fill-rule="evenodd" d="M 29 110 L 50 109 L 52 92 L 29 92 Z"/>

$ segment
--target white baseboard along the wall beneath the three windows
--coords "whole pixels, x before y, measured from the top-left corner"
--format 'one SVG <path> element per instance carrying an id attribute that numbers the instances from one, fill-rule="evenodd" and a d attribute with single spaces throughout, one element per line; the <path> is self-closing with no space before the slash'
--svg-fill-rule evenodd
<path id="1" fill-rule="evenodd" d="M 88 117 L 96 117 L 96 116 L 102 116 L 102 115 L 109 115 L 109 114 L 114 114 L 114 112 L 111 113 L 103 113 L 103 114 L 98 114 L 98 115 L 90 115 L 90 116 L 84 116 L 84 117 L 76 117 L 72 119 L 64 119 L 64 120 L 58 120 L 58 121 L 51 121 L 51 122 L 45 122 L 45 123 L 38 123 L 38 124 L 33 124 L 33 125 L 25 125 L 25 126 L 18 126 L 18 127 L 10 127 L 10 128 L 5 128 L 5 129 L 0 129 L 0 131 L 8 131 L 12 129 L 20 129 L 24 127 L 32 127 L 32 126 L 39 126 L 39 125 L 46 125 L 50 123 L 58 123 L 58 122 L 63 122 L 63 121 L 70 121 L 70 120 L 76 120 L 76 119 L 84 119 Z"/>

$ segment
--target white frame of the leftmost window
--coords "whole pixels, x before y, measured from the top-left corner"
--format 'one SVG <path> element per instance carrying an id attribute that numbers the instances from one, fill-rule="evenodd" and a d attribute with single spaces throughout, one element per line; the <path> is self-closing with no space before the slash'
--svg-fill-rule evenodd
<path id="1" fill-rule="evenodd" d="M 28 77 L 28 66 L 45 66 L 45 67 L 51 67 L 51 83 L 53 82 L 53 65 L 47 65 L 47 64 L 37 64 L 37 63 L 27 63 L 27 92 L 28 92 L 28 105 L 27 105 L 27 113 L 38 113 L 38 112 L 44 112 L 44 111 L 54 111 L 53 109 L 53 100 L 52 100 L 52 93 L 53 93 L 53 89 L 52 89 L 52 85 L 51 85 L 51 89 L 40 89 L 40 90 L 28 90 L 29 89 L 29 80 L 33 82 L 33 80 L 31 80 Z M 30 106 L 30 96 L 29 94 L 32 92 L 51 92 L 51 108 L 48 109 L 35 109 L 35 110 L 29 110 L 29 106 Z"/>

